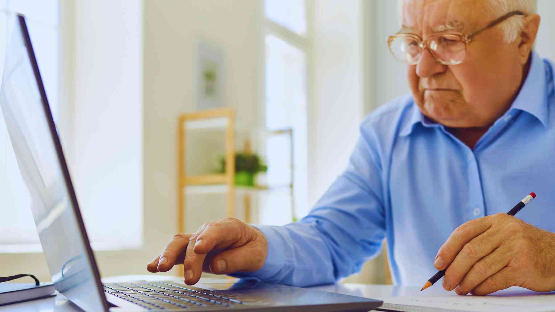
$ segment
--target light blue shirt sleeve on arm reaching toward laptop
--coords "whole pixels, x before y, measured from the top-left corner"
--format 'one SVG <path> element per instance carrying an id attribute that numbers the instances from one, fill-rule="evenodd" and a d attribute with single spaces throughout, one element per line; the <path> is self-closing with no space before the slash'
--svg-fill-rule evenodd
<path id="1" fill-rule="evenodd" d="M 347 169 L 308 216 L 285 226 L 255 226 L 268 239 L 264 266 L 232 276 L 298 287 L 334 283 L 379 254 L 385 237 L 382 166 L 376 140 L 361 133 Z"/>

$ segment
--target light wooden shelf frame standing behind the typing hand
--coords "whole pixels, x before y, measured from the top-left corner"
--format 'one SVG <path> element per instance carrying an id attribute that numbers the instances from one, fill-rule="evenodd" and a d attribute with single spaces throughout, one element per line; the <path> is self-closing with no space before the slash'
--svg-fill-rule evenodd
<path id="1" fill-rule="evenodd" d="M 227 120 L 227 122 L 223 120 Z M 212 120 L 212 121 L 210 121 Z M 187 123 L 194 124 L 187 126 Z M 225 128 L 225 173 L 188 176 L 185 170 L 186 131 Z M 235 217 L 235 111 L 219 108 L 196 111 L 179 116 L 178 134 L 178 231 L 185 232 L 185 193 L 186 187 L 198 185 L 225 185 L 226 217 Z"/>

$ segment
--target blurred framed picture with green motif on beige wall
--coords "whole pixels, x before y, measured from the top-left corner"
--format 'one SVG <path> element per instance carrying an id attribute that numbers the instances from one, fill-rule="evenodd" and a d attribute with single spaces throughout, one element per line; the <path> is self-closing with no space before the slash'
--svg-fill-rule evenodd
<path id="1" fill-rule="evenodd" d="M 199 40 L 198 44 L 198 110 L 223 106 L 224 53 L 215 45 Z"/>

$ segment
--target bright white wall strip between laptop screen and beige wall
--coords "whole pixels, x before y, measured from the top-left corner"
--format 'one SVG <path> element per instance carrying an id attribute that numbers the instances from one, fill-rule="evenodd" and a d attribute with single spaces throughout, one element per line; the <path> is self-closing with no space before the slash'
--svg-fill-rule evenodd
<path id="1" fill-rule="evenodd" d="M 122 228 L 119 244 L 142 244 L 142 9 L 139 1 L 75 3 L 73 177 L 93 248 Z"/>

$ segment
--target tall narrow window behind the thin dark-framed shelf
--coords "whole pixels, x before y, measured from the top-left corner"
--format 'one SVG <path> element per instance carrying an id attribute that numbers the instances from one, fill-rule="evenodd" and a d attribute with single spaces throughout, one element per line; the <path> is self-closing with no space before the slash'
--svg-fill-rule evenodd
<path id="1" fill-rule="evenodd" d="M 266 180 L 260 222 L 305 216 L 307 140 L 307 9 L 302 0 L 265 1 Z"/>

